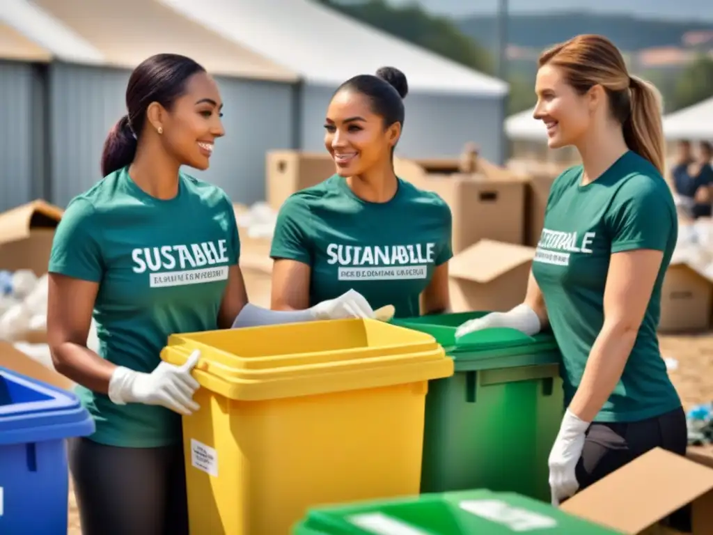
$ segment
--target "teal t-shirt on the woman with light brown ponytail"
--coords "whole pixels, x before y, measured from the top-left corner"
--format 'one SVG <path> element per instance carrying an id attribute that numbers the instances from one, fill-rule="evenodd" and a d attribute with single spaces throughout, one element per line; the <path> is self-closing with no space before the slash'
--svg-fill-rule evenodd
<path id="1" fill-rule="evenodd" d="M 664 253 L 634 348 L 597 422 L 635 422 L 681 406 L 661 357 L 657 327 L 661 286 L 678 234 L 674 200 L 661 174 L 632 151 L 581 185 L 581 165 L 552 185 L 533 274 L 563 354 L 565 401 L 579 387 L 604 322 L 610 255 L 636 249 Z"/>

